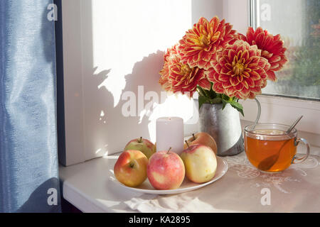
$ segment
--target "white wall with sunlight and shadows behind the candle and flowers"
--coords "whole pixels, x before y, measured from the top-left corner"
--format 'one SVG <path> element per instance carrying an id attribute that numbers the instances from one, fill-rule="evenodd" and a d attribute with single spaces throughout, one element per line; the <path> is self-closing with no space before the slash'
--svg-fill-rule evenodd
<path id="1" fill-rule="evenodd" d="M 181 116 L 185 134 L 196 131 L 196 102 L 161 99 L 164 52 L 201 16 L 246 26 L 247 12 L 226 10 L 235 4 L 247 1 L 64 0 L 66 165 L 117 153 L 140 136 L 156 142 L 160 116 Z M 124 116 L 132 94 L 134 116 Z"/>

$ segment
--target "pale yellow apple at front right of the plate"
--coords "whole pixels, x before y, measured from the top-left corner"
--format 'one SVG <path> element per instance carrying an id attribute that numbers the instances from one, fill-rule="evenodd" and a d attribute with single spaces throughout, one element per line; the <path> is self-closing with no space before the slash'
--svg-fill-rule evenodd
<path id="1" fill-rule="evenodd" d="M 210 147 L 201 144 L 191 145 L 183 150 L 180 156 L 186 167 L 186 177 L 192 182 L 208 182 L 215 176 L 217 157 Z"/>

